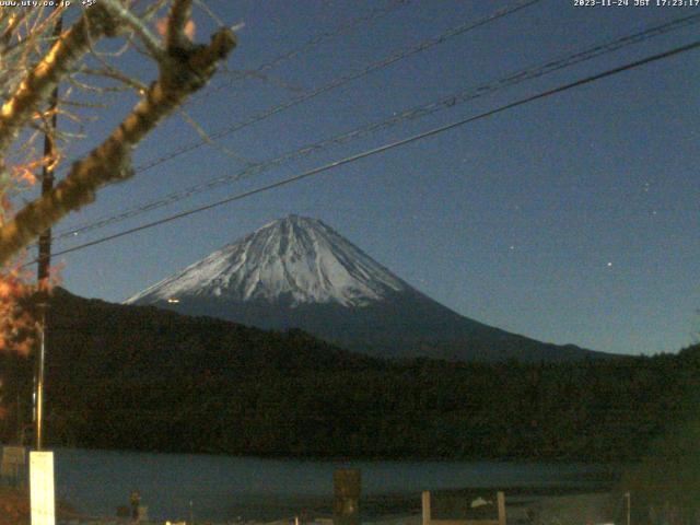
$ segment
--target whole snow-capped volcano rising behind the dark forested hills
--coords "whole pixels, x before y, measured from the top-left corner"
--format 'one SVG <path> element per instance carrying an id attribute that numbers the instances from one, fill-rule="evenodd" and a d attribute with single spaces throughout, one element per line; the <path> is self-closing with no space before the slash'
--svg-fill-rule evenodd
<path id="1" fill-rule="evenodd" d="M 302 328 L 384 358 L 571 361 L 608 355 L 464 317 L 322 221 L 299 215 L 266 224 L 126 303 L 261 328 Z"/>

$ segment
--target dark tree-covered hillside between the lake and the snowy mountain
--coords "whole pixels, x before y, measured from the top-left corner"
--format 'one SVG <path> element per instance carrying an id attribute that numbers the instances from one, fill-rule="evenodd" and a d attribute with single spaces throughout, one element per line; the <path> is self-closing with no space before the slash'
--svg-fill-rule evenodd
<path id="1" fill-rule="evenodd" d="M 687 393 L 700 377 L 697 349 L 580 363 L 385 361 L 299 330 L 65 292 L 50 324 L 48 439 L 88 447 L 623 460 L 697 408 Z"/>

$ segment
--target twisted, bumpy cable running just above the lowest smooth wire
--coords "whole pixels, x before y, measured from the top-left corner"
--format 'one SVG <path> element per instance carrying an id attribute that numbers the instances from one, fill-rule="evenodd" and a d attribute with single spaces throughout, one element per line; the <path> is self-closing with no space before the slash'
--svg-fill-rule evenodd
<path id="1" fill-rule="evenodd" d="M 364 125 L 358 128 L 354 128 L 350 131 L 347 131 L 345 133 L 341 133 L 339 136 L 329 138 L 329 139 L 324 139 L 307 145 L 304 145 L 300 149 L 283 153 L 282 155 L 279 155 L 277 158 L 270 159 L 268 161 L 265 162 L 260 162 L 257 164 L 253 164 L 250 166 L 247 166 L 246 168 L 236 172 L 235 174 L 231 174 L 231 175 L 225 175 L 225 176 L 221 176 L 221 177 L 217 177 L 210 180 L 207 180 L 205 183 L 200 183 L 194 186 L 190 186 L 189 188 L 186 189 L 182 189 L 175 192 L 172 192 L 161 199 L 158 200 L 151 200 L 149 202 L 142 203 L 138 207 L 131 208 L 129 210 L 122 211 L 118 214 L 115 215 L 110 215 L 107 218 L 102 218 L 98 219 L 97 221 L 93 221 L 93 222 L 89 222 L 85 223 L 83 225 L 73 228 L 71 230 L 68 231 L 63 231 L 60 234 L 58 234 L 55 240 L 60 240 L 60 238 L 66 238 L 66 237 L 70 237 L 70 236 L 74 236 L 78 235 L 80 233 L 85 233 L 89 231 L 93 231 L 93 230 L 97 230 L 101 228 L 104 228 L 106 225 L 109 224 L 114 224 L 117 222 L 121 222 L 124 220 L 130 219 L 132 217 L 137 217 L 141 213 L 145 213 L 159 208 L 162 208 L 164 206 L 168 206 L 172 205 L 174 202 L 177 202 L 179 200 L 183 200 L 185 198 L 191 197 L 194 195 L 198 195 L 200 192 L 210 190 L 212 188 L 222 186 L 224 184 L 231 184 L 232 182 L 236 182 L 240 180 L 244 177 L 248 177 L 248 176 L 254 176 L 254 175 L 258 175 L 260 173 L 264 173 L 266 171 L 269 171 L 273 167 L 277 167 L 285 162 L 289 162 L 291 160 L 295 160 L 299 158 L 302 158 L 304 155 L 314 153 L 314 152 L 318 152 L 319 150 L 329 148 L 331 145 L 338 145 L 338 144 L 342 144 L 346 143 L 350 140 L 354 140 L 364 136 L 368 136 L 370 133 L 376 132 L 378 130 L 382 129 L 386 129 L 390 126 L 395 126 L 397 124 L 400 124 L 402 121 L 406 120 L 412 120 L 412 119 L 417 119 L 417 118 L 421 118 L 424 117 L 427 115 L 431 115 L 433 113 L 436 113 L 439 110 L 442 109 L 446 109 L 446 108 L 451 108 L 454 107 L 455 105 L 458 104 L 463 104 L 472 100 L 476 100 L 480 96 L 485 96 L 488 94 L 491 94 L 495 91 L 499 91 L 501 89 L 504 88 L 510 88 L 512 85 L 516 85 L 521 82 L 527 81 L 527 80 L 532 80 L 532 79 L 536 79 L 546 74 L 549 74 L 551 72 L 558 71 L 560 69 L 570 67 L 570 66 L 574 66 L 578 63 L 581 63 L 583 61 L 586 60 L 591 60 L 593 58 L 597 58 L 599 56 L 612 52 L 615 50 L 621 49 L 623 47 L 633 45 L 633 44 L 639 44 L 642 42 L 645 42 L 646 39 L 650 39 L 652 37 L 662 35 L 662 34 L 666 34 L 670 31 L 675 31 L 681 27 L 686 27 L 689 26 L 691 24 L 697 24 L 700 22 L 700 14 L 695 14 L 691 16 L 684 16 L 680 19 L 676 19 L 673 20 L 670 22 L 667 22 L 665 24 L 661 24 L 657 26 L 653 26 L 650 27 L 648 30 L 644 30 L 642 32 L 639 33 L 634 33 L 632 35 L 627 35 L 620 38 L 617 38 L 615 40 L 611 42 L 607 42 L 605 44 L 599 44 L 596 45 L 592 48 L 585 49 L 583 51 L 579 51 L 579 52 L 574 52 L 574 54 L 570 54 L 570 55 L 565 55 L 565 56 L 561 56 L 561 57 L 557 57 L 553 58 L 547 62 L 544 62 L 541 65 L 538 66 L 532 66 L 532 67 L 527 67 L 517 71 L 514 71 L 512 73 L 509 73 L 508 75 L 491 81 L 491 82 L 487 82 L 485 84 L 480 84 L 478 86 L 474 86 L 474 88 L 469 88 L 460 93 L 457 94 L 453 94 L 450 96 L 445 96 L 439 101 L 434 101 L 434 102 L 430 102 L 428 104 L 423 104 L 421 106 L 417 106 L 417 107 L 412 107 L 409 109 L 406 109 L 404 112 L 397 113 L 388 118 L 385 118 L 383 120 L 380 121 L 375 121 L 375 122 L 371 122 L 369 125 Z"/>

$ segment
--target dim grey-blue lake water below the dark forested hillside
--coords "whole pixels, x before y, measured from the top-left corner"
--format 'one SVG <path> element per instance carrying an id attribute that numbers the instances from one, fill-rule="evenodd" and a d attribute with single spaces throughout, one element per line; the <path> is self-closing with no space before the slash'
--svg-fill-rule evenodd
<path id="1" fill-rule="evenodd" d="M 420 508 L 423 490 L 469 487 L 565 487 L 590 483 L 604 466 L 492 462 L 334 462 L 219 455 L 56 450 L 56 492 L 80 511 L 114 516 L 138 489 L 152 520 L 225 522 L 329 512 L 332 472 L 359 468 L 362 494 L 402 494 Z M 396 502 L 396 498 L 386 498 Z M 413 502 L 413 500 L 416 500 Z M 190 503 L 191 502 L 191 503 Z M 408 505 L 408 506 L 407 506 Z M 387 505 L 386 512 L 396 512 Z M 376 505 L 373 511 L 377 511 Z"/>

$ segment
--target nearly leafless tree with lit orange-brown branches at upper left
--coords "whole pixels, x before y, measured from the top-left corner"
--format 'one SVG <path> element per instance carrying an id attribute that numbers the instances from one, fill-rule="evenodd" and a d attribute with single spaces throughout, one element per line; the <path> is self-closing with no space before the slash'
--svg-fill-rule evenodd
<path id="1" fill-rule="evenodd" d="M 28 290 L 16 270 L 19 254 L 61 218 L 92 202 L 101 187 L 133 176 L 133 150 L 211 79 L 236 44 L 232 30 L 223 26 L 208 44 L 195 43 L 192 0 L 97 0 L 82 9 L 77 3 L 0 7 L 0 317 L 7 319 L 13 318 L 16 296 Z M 65 27 L 58 34 L 61 18 Z M 110 42 L 103 40 L 115 43 L 110 52 L 104 49 Z M 116 57 L 125 49 L 145 56 L 158 71 L 155 79 L 149 83 L 118 69 Z M 102 80 L 85 80 L 92 77 Z M 67 88 L 56 105 L 59 84 Z M 72 93 L 116 89 L 137 94 L 133 108 L 98 145 L 71 163 L 52 190 L 14 210 L 13 196 L 45 166 L 65 161 L 63 145 L 77 139 L 55 130 L 54 115 L 78 118 L 71 112 L 80 103 Z M 98 106 L 93 109 L 100 112 Z M 55 144 L 48 152 L 42 147 L 46 133 Z M 0 348 L 7 343 L 7 328 L 0 326 Z"/>

